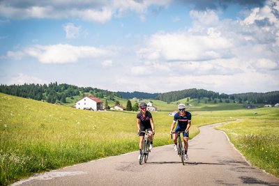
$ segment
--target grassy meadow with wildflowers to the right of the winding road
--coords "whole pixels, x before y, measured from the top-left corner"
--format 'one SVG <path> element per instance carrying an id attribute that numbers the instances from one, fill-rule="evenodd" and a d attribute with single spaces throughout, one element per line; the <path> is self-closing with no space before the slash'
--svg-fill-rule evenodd
<path id="1" fill-rule="evenodd" d="M 279 177 L 279 109 L 257 109 L 245 121 L 218 126 L 234 146 L 260 169 Z"/>

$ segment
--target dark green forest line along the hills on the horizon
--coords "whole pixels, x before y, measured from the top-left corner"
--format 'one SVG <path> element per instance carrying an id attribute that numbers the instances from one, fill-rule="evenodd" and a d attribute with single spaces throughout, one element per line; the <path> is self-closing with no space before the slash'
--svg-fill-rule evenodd
<path id="1" fill-rule="evenodd" d="M 4 85 L 1 84 L 0 92 L 9 95 L 15 95 L 22 98 L 31 98 L 33 100 L 45 100 L 47 102 L 66 103 L 66 98 L 73 98 L 75 95 L 84 95 L 90 93 L 97 98 L 106 98 L 107 100 L 115 101 L 115 97 L 123 99 L 154 99 L 164 102 L 175 102 L 183 98 L 209 98 L 209 99 L 231 99 L 235 102 L 251 102 L 255 104 L 276 104 L 279 102 L 279 91 L 272 91 L 267 93 L 238 93 L 225 94 L 213 91 L 206 91 L 204 89 L 190 88 L 182 91 L 172 91 L 168 93 L 144 93 L 134 91 L 129 92 L 112 92 L 99 88 L 92 87 L 78 87 L 70 84 L 57 84 L 57 82 L 50 84 L 23 84 L 23 85 Z"/>

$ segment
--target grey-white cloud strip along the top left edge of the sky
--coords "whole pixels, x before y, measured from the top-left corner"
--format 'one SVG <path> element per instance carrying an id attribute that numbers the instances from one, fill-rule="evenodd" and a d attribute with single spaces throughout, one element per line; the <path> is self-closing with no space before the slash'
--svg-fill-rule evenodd
<path id="1" fill-rule="evenodd" d="M 81 20 L 105 23 L 115 15 L 119 17 L 128 11 L 139 13 L 144 19 L 146 9 L 151 5 L 167 6 L 167 1 L 36 1 L 28 2 L 3 0 L 0 2 L 0 16 L 12 19 L 65 19 L 78 18 Z"/>

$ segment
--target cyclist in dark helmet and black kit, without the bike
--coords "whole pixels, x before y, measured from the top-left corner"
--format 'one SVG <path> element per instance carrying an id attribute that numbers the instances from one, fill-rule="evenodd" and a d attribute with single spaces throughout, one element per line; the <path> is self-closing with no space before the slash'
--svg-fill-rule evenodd
<path id="1" fill-rule="evenodd" d="M 138 132 L 145 131 L 145 130 L 149 132 L 149 141 L 150 141 L 149 150 L 151 150 L 153 148 L 153 134 L 155 134 L 155 130 L 154 130 L 152 115 L 150 111 L 147 111 L 146 109 L 147 109 L 147 104 L 145 102 L 140 103 L 140 112 L 137 113 L 137 130 Z M 140 132 L 139 135 L 140 135 L 140 150 L 141 150 L 144 141 L 144 133 Z M 140 155 L 138 158 L 140 159 Z"/>

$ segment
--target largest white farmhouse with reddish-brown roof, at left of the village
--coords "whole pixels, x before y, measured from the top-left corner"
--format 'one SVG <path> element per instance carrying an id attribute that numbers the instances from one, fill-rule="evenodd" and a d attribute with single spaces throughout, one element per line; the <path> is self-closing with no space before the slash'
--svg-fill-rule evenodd
<path id="1" fill-rule="evenodd" d="M 98 111 L 103 109 L 103 101 L 92 95 L 86 95 L 75 103 L 75 108 Z"/>

